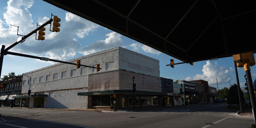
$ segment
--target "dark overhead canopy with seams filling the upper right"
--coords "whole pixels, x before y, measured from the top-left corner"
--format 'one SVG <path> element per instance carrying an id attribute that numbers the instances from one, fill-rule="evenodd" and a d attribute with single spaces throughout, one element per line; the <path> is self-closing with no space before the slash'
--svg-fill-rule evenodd
<path id="1" fill-rule="evenodd" d="M 184 62 L 256 51 L 255 0 L 44 1 Z"/>

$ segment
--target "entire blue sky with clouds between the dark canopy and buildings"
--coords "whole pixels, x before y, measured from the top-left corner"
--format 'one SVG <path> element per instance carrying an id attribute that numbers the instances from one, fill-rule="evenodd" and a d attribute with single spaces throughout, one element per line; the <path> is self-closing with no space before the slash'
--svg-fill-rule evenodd
<path id="1" fill-rule="evenodd" d="M 42 0 L 0 1 L 0 45 L 7 47 L 18 38 L 16 35 L 17 28 L 11 27 L 9 24 L 19 26 L 19 34 L 27 34 L 36 28 L 37 23 L 42 24 L 51 18 L 51 13 L 61 19 L 60 32 L 51 32 L 49 31 L 49 26 L 46 26 L 44 41 L 35 40 L 35 36 L 31 36 L 10 51 L 66 61 L 112 47 L 122 46 L 158 59 L 160 61 L 161 77 L 173 79 L 174 81 L 202 79 L 208 81 L 213 87 L 217 87 L 217 77 L 220 89 L 229 87 L 229 80 L 231 84 L 236 83 L 232 57 L 194 62 L 194 66 L 185 63 L 171 68 L 166 65 L 170 64 L 170 59 L 173 57 Z M 181 61 L 174 58 L 174 63 L 177 62 Z M 10 72 L 15 72 L 18 75 L 53 64 L 55 63 L 6 55 L 4 56 L 1 75 L 6 75 Z M 254 81 L 256 79 L 256 66 L 251 67 L 251 72 Z M 238 68 L 238 74 L 241 87 L 244 87 L 244 69 Z"/>

